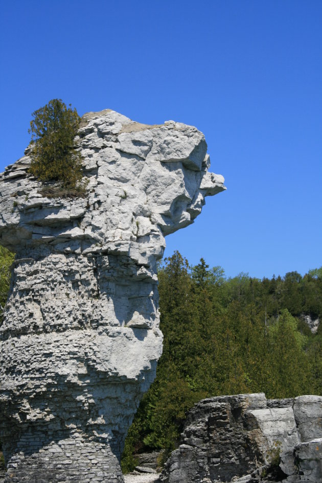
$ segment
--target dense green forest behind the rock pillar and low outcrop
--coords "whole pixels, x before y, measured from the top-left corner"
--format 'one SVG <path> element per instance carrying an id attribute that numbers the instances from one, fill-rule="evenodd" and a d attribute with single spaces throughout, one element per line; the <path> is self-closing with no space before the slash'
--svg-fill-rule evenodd
<path id="1" fill-rule="evenodd" d="M 202 398 L 264 392 L 268 398 L 322 395 L 322 324 L 313 335 L 296 316 L 322 314 L 322 269 L 301 277 L 226 279 L 178 251 L 159 267 L 164 350 L 126 439 L 133 453 L 176 447 L 186 412 Z M 272 462 L 279 445 L 271 448 Z"/>

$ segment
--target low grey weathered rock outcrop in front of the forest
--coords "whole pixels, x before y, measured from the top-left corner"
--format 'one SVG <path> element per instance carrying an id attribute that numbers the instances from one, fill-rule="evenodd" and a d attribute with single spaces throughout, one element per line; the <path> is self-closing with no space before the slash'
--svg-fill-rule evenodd
<path id="1" fill-rule="evenodd" d="M 277 453 L 279 468 L 265 479 Z M 266 400 L 261 393 L 200 401 L 160 481 L 322 481 L 322 397 Z"/>

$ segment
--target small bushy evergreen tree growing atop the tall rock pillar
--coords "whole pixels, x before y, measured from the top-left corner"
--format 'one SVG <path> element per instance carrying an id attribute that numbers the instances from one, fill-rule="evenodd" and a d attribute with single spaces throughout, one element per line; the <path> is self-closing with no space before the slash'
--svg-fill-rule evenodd
<path id="1" fill-rule="evenodd" d="M 75 190 L 82 179 L 82 163 L 74 138 L 80 117 L 71 105 L 53 99 L 32 113 L 30 173 L 41 181 L 56 181 L 64 189 Z"/>

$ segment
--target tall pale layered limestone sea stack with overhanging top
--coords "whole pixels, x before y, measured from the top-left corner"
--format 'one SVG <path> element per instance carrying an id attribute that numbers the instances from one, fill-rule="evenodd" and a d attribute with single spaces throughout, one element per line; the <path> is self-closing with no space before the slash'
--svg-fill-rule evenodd
<path id="1" fill-rule="evenodd" d="M 222 190 L 204 136 L 85 114 L 86 198 L 47 198 L 26 156 L 0 175 L 0 243 L 16 252 L 0 328 L 6 481 L 121 482 L 120 458 L 162 353 L 164 236 Z"/>

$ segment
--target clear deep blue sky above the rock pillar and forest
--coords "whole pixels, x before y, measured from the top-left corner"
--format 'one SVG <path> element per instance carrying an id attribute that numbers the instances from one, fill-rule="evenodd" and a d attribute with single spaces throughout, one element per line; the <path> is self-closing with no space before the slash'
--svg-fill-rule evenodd
<path id="1" fill-rule="evenodd" d="M 53 98 L 192 124 L 227 191 L 166 256 L 259 278 L 322 265 L 320 0 L 2 0 L 0 18 L 0 171 Z"/>

